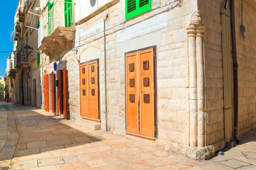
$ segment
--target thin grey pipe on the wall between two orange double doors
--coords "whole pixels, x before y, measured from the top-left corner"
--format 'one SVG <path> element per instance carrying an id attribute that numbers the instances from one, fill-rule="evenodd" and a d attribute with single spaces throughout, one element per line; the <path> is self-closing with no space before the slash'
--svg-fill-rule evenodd
<path id="1" fill-rule="evenodd" d="M 106 132 L 108 131 L 108 121 L 107 121 L 107 70 L 106 70 L 106 20 L 108 18 L 108 14 L 105 14 L 103 21 L 104 28 L 104 79 L 105 79 L 105 128 Z"/>

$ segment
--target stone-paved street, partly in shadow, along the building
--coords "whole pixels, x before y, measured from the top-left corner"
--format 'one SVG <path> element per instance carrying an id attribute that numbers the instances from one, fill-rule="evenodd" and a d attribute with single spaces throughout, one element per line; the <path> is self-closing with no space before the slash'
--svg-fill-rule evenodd
<path id="1" fill-rule="evenodd" d="M 0 170 L 256 170 L 256 131 L 209 161 L 91 131 L 29 106 L 0 102 Z"/>

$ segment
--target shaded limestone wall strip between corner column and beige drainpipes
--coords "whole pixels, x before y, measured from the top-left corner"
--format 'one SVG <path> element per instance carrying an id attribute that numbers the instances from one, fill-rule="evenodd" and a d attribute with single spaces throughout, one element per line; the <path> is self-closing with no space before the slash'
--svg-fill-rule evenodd
<path id="1" fill-rule="evenodd" d="M 223 68 L 221 14 L 223 0 L 198 0 L 204 17 L 205 125 L 206 145 L 224 139 Z"/>

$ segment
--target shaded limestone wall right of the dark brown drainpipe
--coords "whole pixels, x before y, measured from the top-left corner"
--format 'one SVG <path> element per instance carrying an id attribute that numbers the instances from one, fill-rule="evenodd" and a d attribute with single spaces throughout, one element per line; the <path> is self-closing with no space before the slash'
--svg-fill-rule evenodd
<path id="1" fill-rule="evenodd" d="M 235 0 L 238 62 L 239 136 L 256 129 L 256 3 L 243 1 L 244 41 L 241 37 L 241 0 Z"/>

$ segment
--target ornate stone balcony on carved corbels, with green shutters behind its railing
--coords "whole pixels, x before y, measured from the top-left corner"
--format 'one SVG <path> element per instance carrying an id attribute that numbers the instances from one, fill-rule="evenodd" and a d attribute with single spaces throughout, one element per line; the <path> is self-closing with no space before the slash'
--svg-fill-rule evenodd
<path id="1" fill-rule="evenodd" d="M 63 1 L 48 2 L 48 12 L 44 13 L 38 28 L 38 49 L 49 57 L 63 50 L 75 40 L 73 23 L 74 3 Z"/>

